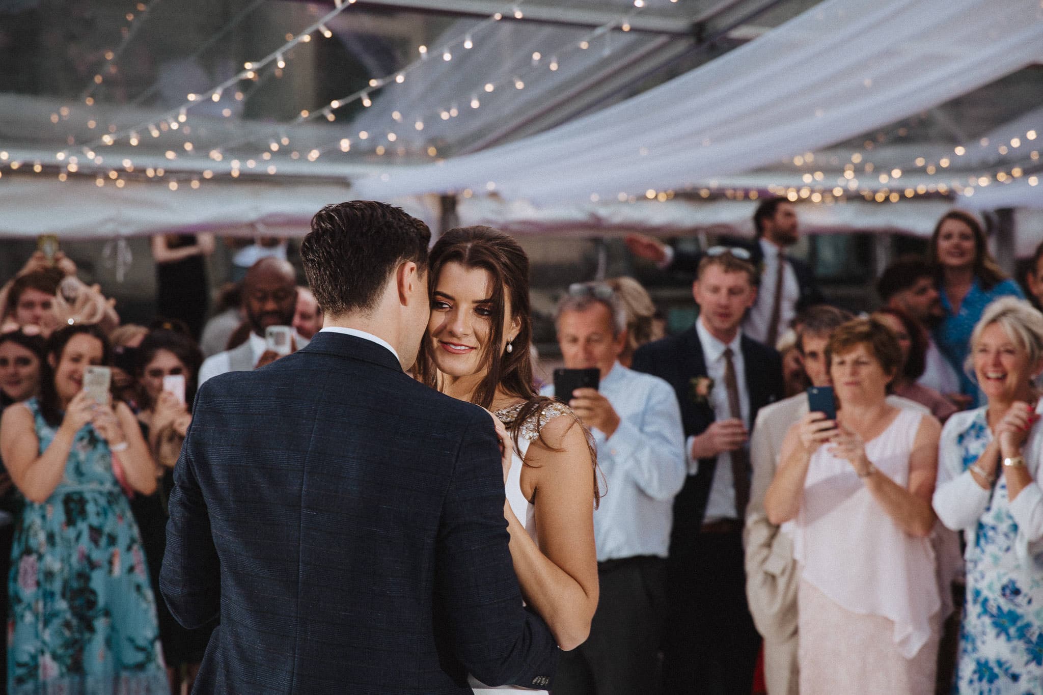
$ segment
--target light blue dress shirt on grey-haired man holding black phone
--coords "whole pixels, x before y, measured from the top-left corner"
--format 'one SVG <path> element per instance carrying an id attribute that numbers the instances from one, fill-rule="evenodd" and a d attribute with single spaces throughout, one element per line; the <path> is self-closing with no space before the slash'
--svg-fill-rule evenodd
<path id="1" fill-rule="evenodd" d="M 674 497 L 686 475 L 684 430 L 674 390 L 658 376 L 615 363 L 598 388 L 620 416 L 606 439 L 591 428 L 605 496 L 593 514 L 598 562 L 636 555 L 665 557 Z M 554 386 L 540 391 L 554 395 Z"/>

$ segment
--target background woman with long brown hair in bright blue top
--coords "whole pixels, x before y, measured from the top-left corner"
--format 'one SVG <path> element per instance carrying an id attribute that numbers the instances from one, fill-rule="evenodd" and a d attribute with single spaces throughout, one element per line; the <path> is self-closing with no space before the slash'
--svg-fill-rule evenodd
<path id="1" fill-rule="evenodd" d="M 1024 295 L 990 255 L 985 231 L 969 213 L 952 210 L 942 216 L 930 237 L 928 260 L 945 309 L 935 340 L 960 374 L 960 389 L 970 397 L 969 405 L 979 405 L 977 386 L 964 369 L 971 331 L 994 299 L 1008 295 L 1023 299 Z"/>

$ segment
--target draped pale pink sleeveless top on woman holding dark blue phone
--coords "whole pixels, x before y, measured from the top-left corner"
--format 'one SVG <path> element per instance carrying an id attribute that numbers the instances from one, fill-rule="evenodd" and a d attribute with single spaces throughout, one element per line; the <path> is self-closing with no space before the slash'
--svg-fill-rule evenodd
<path id="1" fill-rule="evenodd" d="M 883 475 L 908 486 L 909 453 L 923 414 L 901 409 L 866 455 Z M 891 620 L 894 642 L 912 659 L 930 637 L 941 607 L 930 540 L 905 533 L 877 504 L 847 460 L 819 447 L 804 481 L 794 556 L 803 578 L 842 607 Z"/>

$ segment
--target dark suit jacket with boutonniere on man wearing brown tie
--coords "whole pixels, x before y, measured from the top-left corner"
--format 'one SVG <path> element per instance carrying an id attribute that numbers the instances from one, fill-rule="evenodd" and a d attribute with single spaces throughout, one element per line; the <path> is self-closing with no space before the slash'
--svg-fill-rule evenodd
<path id="1" fill-rule="evenodd" d="M 750 426 L 757 420 L 757 411 L 782 398 L 782 361 L 772 348 L 743 336 L 739 341 L 746 372 L 746 392 L 750 398 Z M 695 394 L 694 380 L 706 376 L 706 362 L 699 332 L 693 326 L 637 348 L 632 368 L 666 379 L 677 394 L 681 406 L 684 437 L 703 433 L 715 419 L 712 405 Z M 723 383 L 714 389 L 724 389 Z M 671 531 L 670 556 L 690 556 L 706 515 L 706 502 L 713 482 L 717 457 L 700 458 L 699 471 L 689 475 L 681 492 L 674 498 L 674 527 Z"/>

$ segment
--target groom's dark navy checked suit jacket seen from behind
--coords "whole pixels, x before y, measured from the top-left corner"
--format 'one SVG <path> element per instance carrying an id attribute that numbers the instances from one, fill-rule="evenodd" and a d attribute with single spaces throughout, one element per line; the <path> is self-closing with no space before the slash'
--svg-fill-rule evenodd
<path id="1" fill-rule="evenodd" d="M 196 693 L 470 693 L 551 682 L 523 607 L 488 413 L 319 332 L 208 380 L 174 469 L 160 584 L 220 618 Z"/>

